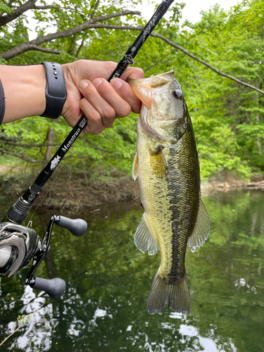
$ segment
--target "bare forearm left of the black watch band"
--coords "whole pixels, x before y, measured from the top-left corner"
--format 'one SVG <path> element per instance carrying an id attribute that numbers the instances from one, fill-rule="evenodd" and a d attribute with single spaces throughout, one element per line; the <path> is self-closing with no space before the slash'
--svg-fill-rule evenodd
<path id="1" fill-rule="evenodd" d="M 0 78 L 6 96 L 3 123 L 44 113 L 46 73 L 43 65 L 0 65 Z"/>

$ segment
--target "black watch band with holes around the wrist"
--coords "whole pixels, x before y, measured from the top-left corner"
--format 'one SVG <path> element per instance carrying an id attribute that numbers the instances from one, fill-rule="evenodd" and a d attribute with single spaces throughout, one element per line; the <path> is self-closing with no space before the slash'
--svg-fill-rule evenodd
<path id="1" fill-rule="evenodd" d="M 46 70 L 46 109 L 41 116 L 58 118 L 67 98 L 63 68 L 59 63 L 42 63 Z"/>

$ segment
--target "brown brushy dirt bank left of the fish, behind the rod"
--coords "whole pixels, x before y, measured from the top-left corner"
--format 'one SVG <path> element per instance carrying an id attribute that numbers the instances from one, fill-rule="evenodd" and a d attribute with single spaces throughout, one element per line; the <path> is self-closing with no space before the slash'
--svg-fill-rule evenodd
<path id="1" fill-rule="evenodd" d="M 36 175 L 27 176 L 19 180 L 15 176 L 0 177 L 0 191 L 2 195 L 17 199 L 32 185 Z M 113 177 L 99 181 L 89 179 L 80 174 L 68 175 L 60 172 L 58 177 L 51 177 L 45 184 L 35 205 L 46 208 L 75 209 L 80 207 L 92 208 L 103 203 L 117 201 L 136 201 L 139 199 L 137 182 L 132 177 Z"/>

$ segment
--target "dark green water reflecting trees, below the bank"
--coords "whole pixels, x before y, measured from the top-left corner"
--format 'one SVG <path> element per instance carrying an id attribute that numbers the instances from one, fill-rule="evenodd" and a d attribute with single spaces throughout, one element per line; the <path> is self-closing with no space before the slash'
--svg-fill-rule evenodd
<path id="1" fill-rule="evenodd" d="M 87 220 L 87 234 L 75 238 L 54 227 L 52 251 L 37 276 L 62 277 L 66 292 L 54 299 L 25 287 L 28 268 L 2 279 L 0 341 L 18 326 L 19 315 L 24 325 L 0 350 L 264 351 L 263 200 L 256 190 L 203 197 L 212 230 L 201 249 L 187 250 L 190 315 L 167 307 L 156 315 L 146 311 L 160 258 L 134 246 L 138 203 L 63 212 Z M 1 203 L 4 215 L 12 202 Z M 53 213 L 35 216 L 39 234 Z"/>

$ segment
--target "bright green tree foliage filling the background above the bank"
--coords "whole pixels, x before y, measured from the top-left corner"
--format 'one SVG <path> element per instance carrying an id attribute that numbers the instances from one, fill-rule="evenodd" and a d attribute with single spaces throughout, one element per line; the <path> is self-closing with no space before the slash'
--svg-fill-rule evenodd
<path id="1" fill-rule="evenodd" d="M 17 4 L 23 3 L 25 0 L 17 1 Z M 32 12 L 34 20 L 37 20 L 33 31 L 28 13 L 1 27 L 0 52 L 27 42 L 33 33 L 34 37 L 42 37 L 51 32 L 67 30 L 91 17 L 126 9 L 135 10 L 139 3 L 142 1 L 108 0 L 99 2 L 97 6 L 95 0 L 54 1 L 54 8 L 35 9 Z M 1 6 L 0 11 L 9 11 L 5 4 Z M 169 10 L 170 18 L 163 18 L 156 32 L 222 72 L 263 89 L 264 1 L 243 0 L 230 11 L 223 11 L 219 5 L 215 5 L 202 13 L 199 23 L 186 21 L 180 27 L 178 21 L 183 7 L 183 3 L 175 3 Z M 137 15 L 126 15 L 109 18 L 103 23 L 142 26 L 146 20 Z M 42 44 L 48 49 L 61 50 L 59 56 L 27 51 L 0 63 L 24 65 L 43 60 L 65 63 L 78 58 L 119 61 L 138 34 L 134 30 L 86 30 Z M 210 180 L 231 172 L 249 180 L 252 172 L 264 172 L 264 97 L 261 94 L 218 75 L 182 51 L 153 37 L 149 37 L 139 51 L 135 65 L 144 69 L 146 77 L 175 70 L 194 124 L 202 179 Z M 89 170 L 92 177 L 101 175 L 103 169 L 106 175 L 116 170 L 131 172 L 137 139 L 136 124 L 137 116 L 131 115 L 117 120 L 113 129 L 99 136 L 82 136 L 68 153 L 65 163 Z M 1 127 L 1 136 L 22 144 L 44 143 L 49 128 L 56 130 L 54 143 L 57 144 L 70 131 L 63 119 L 54 123 L 44 118 L 27 118 Z M 43 147 L 25 149 L 6 144 L 4 149 L 23 153 L 27 159 L 38 161 L 43 160 L 45 152 Z M 11 160 L 13 157 L 7 158 Z"/>

